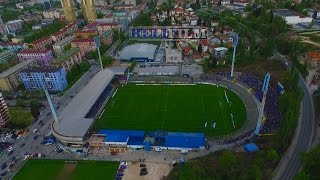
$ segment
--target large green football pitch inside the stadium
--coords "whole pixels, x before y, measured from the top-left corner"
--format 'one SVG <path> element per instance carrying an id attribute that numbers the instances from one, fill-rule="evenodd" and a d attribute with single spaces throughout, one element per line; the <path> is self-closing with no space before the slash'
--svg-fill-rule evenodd
<path id="1" fill-rule="evenodd" d="M 118 89 L 93 129 L 204 132 L 219 136 L 241 128 L 245 120 L 244 103 L 223 87 L 130 84 Z M 211 127 L 213 123 L 215 128 Z"/>

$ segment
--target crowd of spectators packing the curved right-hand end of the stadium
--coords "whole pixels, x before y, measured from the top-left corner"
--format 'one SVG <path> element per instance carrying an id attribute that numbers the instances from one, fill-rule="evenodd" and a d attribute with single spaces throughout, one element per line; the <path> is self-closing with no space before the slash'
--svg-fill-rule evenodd
<path id="1" fill-rule="evenodd" d="M 221 77 L 229 78 L 230 72 L 218 72 L 210 75 L 203 75 L 200 78 L 202 80 L 220 80 L 219 78 Z M 241 82 L 242 84 L 250 88 L 254 93 L 255 97 L 257 97 L 257 99 L 260 102 L 262 101 L 263 79 L 253 76 L 249 73 L 244 73 L 244 72 L 236 72 L 234 73 L 234 77 L 237 81 Z M 266 120 L 264 121 L 264 124 L 260 129 L 260 134 L 271 134 L 280 125 L 281 112 L 279 108 L 278 94 L 270 86 L 269 86 L 267 97 L 266 97 L 264 114 L 265 114 Z"/>

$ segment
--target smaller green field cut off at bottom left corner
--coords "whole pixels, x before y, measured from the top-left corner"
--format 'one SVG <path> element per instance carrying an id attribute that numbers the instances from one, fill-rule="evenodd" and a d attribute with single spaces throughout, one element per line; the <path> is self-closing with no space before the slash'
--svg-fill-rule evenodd
<path id="1" fill-rule="evenodd" d="M 113 180 L 119 162 L 77 161 L 75 167 L 65 167 L 65 160 L 31 159 L 21 168 L 14 180 Z"/>

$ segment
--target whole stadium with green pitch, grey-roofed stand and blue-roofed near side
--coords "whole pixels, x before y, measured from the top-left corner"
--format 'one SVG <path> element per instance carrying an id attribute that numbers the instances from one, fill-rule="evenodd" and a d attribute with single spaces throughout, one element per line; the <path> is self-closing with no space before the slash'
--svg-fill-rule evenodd
<path id="1" fill-rule="evenodd" d="M 51 126 L 65 150 L 197 150 L 255 127 L 256 100 L 228 78 L 128 79 L 127 68 L 104 69 L 72 99 Z"/>

